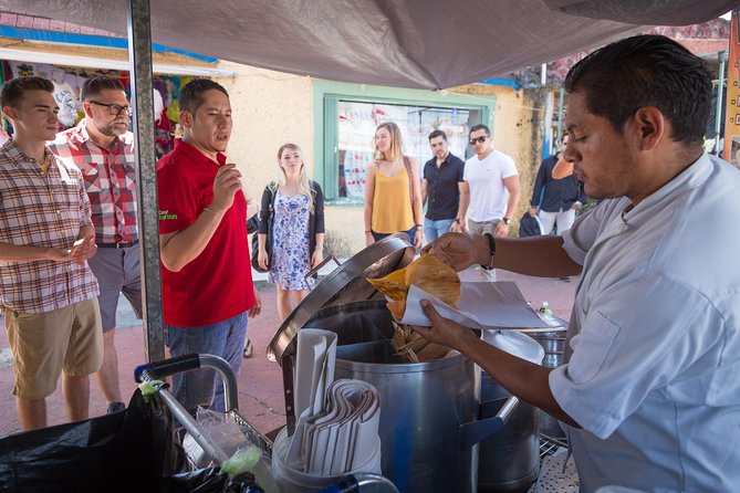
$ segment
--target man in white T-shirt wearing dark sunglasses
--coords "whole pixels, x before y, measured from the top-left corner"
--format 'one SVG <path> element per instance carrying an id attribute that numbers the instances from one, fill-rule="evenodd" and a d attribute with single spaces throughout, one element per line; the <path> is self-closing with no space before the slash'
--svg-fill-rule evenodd
<path id="1" fill-rule="evenodd" d="M 519 203 L 519 175 L 514 160 L 493 149 L 491 130 L 476 125 L 468 134 L 476 156 L 465 162 L 460 212 L 468 216 L 473 233 L 509 234 L 509 224 Z"/>

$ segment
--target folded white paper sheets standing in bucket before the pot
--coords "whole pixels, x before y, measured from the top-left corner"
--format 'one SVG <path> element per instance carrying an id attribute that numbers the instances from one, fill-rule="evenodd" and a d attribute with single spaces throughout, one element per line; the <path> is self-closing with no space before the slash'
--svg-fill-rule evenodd
<path id="1" fill-rule="evenodd" d="M 362 380 L 334 378 L 336 334 L 299 332 L 295 378 L 298 422 L 285 463 L 315 475 L 379 473 L 381 396 Z"/>

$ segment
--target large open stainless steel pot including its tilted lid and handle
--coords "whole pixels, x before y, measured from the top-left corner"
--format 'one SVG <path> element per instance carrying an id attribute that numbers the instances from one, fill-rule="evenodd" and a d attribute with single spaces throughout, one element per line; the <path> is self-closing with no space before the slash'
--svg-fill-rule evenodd
<path id="1" fill-rule="evenodd" d="M 511 398 L 494 418 L 478 420 L 480 373 L 462 355 L 404 363 L 387 339 L 393 335 L 385 300 L 365 281 L 414 259 L 405 234 L 368 246 L 322 280 L 290 314 L 268 356 L 281 363 L 289 430 L 294 426 L 295 336 L 313 327 L 338 335 L 335 378 L 357 378 L 381 394 L 382 468 L 400 492 L 476 492 L 476 443 L 503 426 L 515 408 Z"/>

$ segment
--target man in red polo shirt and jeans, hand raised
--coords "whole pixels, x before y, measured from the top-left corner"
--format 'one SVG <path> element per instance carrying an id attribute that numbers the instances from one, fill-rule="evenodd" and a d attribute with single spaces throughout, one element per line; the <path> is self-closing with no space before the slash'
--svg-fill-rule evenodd
<path id="1" fill-rule="evenodd" d="M 239 374 L 248 317 L 260 312 L 252 284 L 241 174 L 223 151 L 231 136 L 226 90 L 198 78 L 180 90 L 183 139 L 157 162 L 161 287 L 173 357 L 217 355 Z M 174 395 L 190 412 L 223 411 L 216 373 L 175 375 Z"/>

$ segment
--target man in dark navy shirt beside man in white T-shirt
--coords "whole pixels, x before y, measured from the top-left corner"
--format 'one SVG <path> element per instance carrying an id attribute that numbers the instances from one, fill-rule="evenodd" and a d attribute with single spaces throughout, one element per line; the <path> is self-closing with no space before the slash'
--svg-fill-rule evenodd
<path id="1" fill-rule="evenodd" d="M 431 242 L 448 231 L 465 231 L 461 213 L 465 209 L 460 208 L 465 162 L 449 151 L 447 134 L 442 130 L 429 134 L 429 146 L 435 157 L 424 165 L 421 203 L 429 200 L 424 218 L 424 237 Z M 462 201 L 466 198 L 462 197 Z"/>

